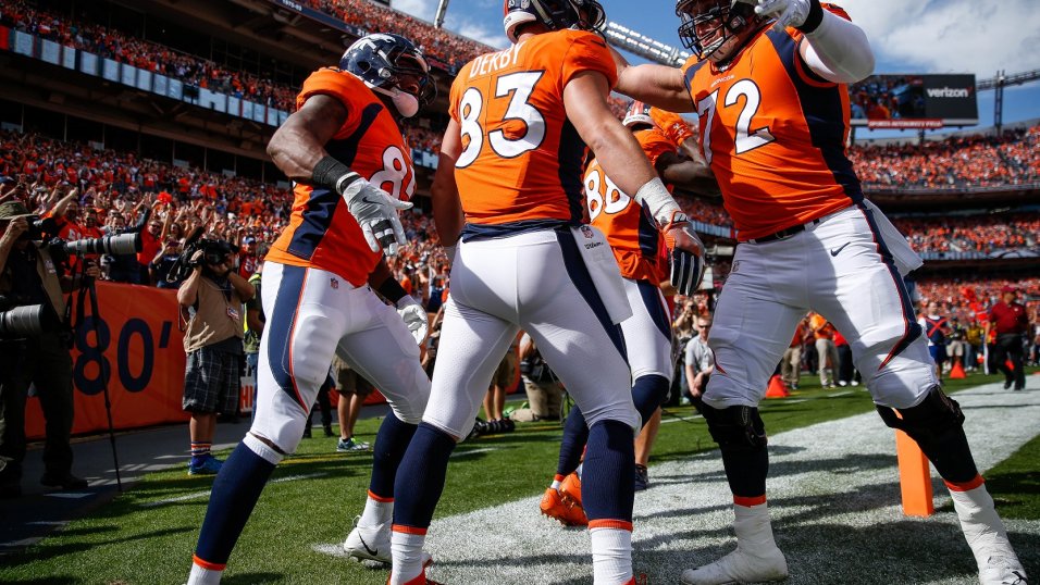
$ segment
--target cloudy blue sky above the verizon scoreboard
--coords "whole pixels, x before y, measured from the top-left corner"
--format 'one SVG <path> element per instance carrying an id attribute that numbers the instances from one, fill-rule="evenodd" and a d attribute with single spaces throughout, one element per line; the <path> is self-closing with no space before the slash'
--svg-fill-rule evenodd
<path id="1" fill-rule="evenodd" d="M 1036 0 L 845 0 L 867 33 L 878 73 L 1040 69 Z"/>

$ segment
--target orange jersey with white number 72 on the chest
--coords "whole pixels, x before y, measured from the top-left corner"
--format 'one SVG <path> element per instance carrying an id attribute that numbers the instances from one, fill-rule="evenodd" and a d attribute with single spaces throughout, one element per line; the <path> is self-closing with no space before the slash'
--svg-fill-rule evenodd
<path id="1" fill-rule="evenodd" d="M 683 66 L 701 147 L 740 241 L 863 199 L 845 155 L 847 87 L 808 69 L 798 54 L 802 39 L 794 28 L 767 27 L 725 70 L 693 59 Z"/>

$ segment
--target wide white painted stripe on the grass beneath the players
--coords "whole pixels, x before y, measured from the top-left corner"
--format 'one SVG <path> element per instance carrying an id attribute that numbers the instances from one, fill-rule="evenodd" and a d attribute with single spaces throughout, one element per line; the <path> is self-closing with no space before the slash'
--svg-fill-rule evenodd
<path id="1" fill-rule="evenodd" d="M 991 384 L 955 397 L 981 470 L 1040 433 L 1040 391 Z M 894 435 L 876 413 L 780 433 L 769 443 L 768 496 L 791 570 L 788 583 L 978 583 L 952 511 L 926 520 L 901 514 Z M 732 548 L 732 498 L 718 451 L 653 465 L 649 477 L 651 488 L 635 497 L 635 572 L 648 583 L 677 583 L 683 569 Z M 932 477 L 940 508 L 949 497 Z M 429 576 L 499 585 L 591 583 L 586 532 L 541 516 L 538 499 L 435 520 L 426 539 L 436 560 Z M 1040 522 L 1011 521 L 1008 528 L 1035 575 Z"/>

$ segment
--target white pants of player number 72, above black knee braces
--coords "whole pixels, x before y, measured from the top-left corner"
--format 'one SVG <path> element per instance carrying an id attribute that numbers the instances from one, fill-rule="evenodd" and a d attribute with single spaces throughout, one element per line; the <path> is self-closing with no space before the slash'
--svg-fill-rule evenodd
<path id="1" fill-rule="evenodd" d="M 905 409 L 938 384 L 903 279 L 870 215 L 852 206 L 789 238 L 736 247 L 708 345 L 716 373 L 704 401 L 757 406 L 808 310 L 830 321 L 878 404 Z"/>

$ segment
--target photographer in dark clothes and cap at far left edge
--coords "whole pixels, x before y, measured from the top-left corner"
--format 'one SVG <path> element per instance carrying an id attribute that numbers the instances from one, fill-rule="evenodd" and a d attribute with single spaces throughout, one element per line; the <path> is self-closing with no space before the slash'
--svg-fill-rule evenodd
<path id="1" fill-rule="evenodd" d="M 25 402 L 32 384 L 36 385 L 47 423 L 46 471 L 40 483 L 59 489 L 87 486 L 71 472 L 72 358 L 67 331 L 61 325 L 65 315 L 62 292 L 78 288 L 81 283 L 65 276 L 63 266 L 42 247 L 42 236 L 30 231 L 30 216 L 20 201 L 0 203 L 0 297 L 4 300 L 0 311 L 42 307 L 39 334 L 20 335 L 0 327 L 0 497 L 4 498 L 22 494 Z M 98 276 L 97 266 L 89 261 L 86 275 Z"/>

